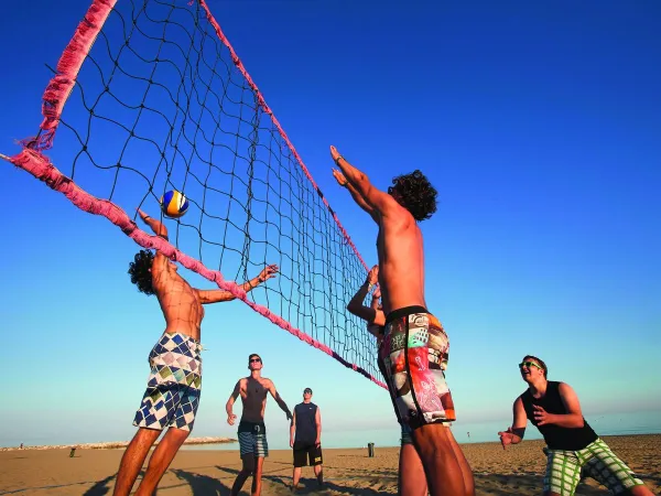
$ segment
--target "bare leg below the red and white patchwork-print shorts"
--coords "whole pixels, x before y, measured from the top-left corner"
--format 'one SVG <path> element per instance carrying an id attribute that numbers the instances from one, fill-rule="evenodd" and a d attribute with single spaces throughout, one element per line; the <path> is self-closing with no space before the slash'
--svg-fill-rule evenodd
<path id="1" fill-rule="evenodd" d="M 432 496 L 475 493 L 473 471 L 448 428 L 441 423 L 422 425 L 413 431 L 413 443 Z"/>

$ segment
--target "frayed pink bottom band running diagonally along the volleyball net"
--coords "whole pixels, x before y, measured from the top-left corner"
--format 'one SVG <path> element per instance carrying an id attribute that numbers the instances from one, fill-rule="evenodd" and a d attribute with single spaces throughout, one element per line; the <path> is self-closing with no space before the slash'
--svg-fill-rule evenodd
<path id="1" fill-rule="evenodd" d="M 308 336 L 304 332 L 292 326 L 289 322 L 275 315 L 266 306 L 259 305 L 248 300 L 246 291 L 243 291 L 236 282 L 225 281 L 220 272 L 207 269 L 199 260 L 196 260 L 181 252 L 165 239 L 159 236 L 151 236 L 144 233 L 138 227 L 138 225 L 133 220 L 131 220 L 131 218 L 127 215 L 127 213 L 123 209 L 115 205 L 112 202 L 97 198 L 87 193 L 85 190 L 76 185 L 76 183 L 74 183 L 69 177 L 65 176 L 62 172 L 59 172 L 45 155 L 34 150 L 23 149 L 23 151 L 21 151 L 21 153 L 19 153 L 18 155 L 11 157 L 10 161 L 14 165 L 34 175 L 40 181 L 46 183 L 46 185 L 52 190 L 64 194 L 64 196 L 66 196 L 74 205 L 76 205 L 82 211 L 85 211 L 89 214 L 101 215 L 106 217 L 141 247 L 148 249 L 158 249 L 166 257 L 180 262 L 186 269 L 191 269 L 197 272 L 205 279 L 208 279 L 209 281 L 218 284 L 220 289 L 229 291 L 231 294 L 234 294 L 237 299 L 241 300 L 252 310 L 266 316 L 275 325 L 293 334 L 299 339 L 304 341 L 308 345 L 312 345 L 315 348 L 332 356 L 346 367 L 353 368 L 354 370 L 364 375 L 378 386 L 388 389 L 388 387 L 382 381 L 378 380 L 367 370 L 358 367 L 356 364 L 348 363 L 328 346 L 326 346 L 323 343 L 319 343 L 318 341 Z"/>

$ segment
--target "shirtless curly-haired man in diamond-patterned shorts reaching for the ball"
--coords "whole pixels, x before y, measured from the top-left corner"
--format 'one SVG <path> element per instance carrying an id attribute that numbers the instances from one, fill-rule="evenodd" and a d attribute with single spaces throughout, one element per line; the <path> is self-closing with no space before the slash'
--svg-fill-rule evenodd
<path id="1" fill-rule="evenodd" d="M 156 236 L 167 239 L 165 225 L 142 211 L 139 214 Z M 160 251 L 154 256 L 149 250 L 141 250 L 130 263 L 131 282 L 138 285 L 139 291 L 156 295 L 165 317 L 165 331 L 149 355 L 151 374 L 133 420 L 133 425 L 139 429 L 121 459 L 115 485 L 116 496 L 126 496 L 131 492 L 149 450 L 163 430 L 167 429 L 151 455 L 136 493 L 153 494 L 176 452 L 193 430 L 202 388 L 202 305 L 235 299 L 229 291 L 192 288 L 176 269 L 176 263 Z M 278 266 L 268 266 L 241 288 L 250 291 L 277 272 Z"/>

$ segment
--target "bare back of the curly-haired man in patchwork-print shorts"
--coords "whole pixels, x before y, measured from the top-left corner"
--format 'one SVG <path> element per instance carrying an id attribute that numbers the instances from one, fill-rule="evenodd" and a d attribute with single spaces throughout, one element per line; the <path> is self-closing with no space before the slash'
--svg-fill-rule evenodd
<path id="1" fill-rule="evenodd" d="M 404 306 L 424 306 L 422 233 L 413 216 L 394 200 L 379 219 L 379 283 L 386 314 Z"/>

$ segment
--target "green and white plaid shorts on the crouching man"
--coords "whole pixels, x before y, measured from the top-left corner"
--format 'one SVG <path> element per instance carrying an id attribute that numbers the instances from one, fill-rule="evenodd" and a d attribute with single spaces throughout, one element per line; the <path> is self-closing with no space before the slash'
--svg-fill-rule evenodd
<path id="1" fill-rule="evenodd" d="M 582 475 L 593 477 L 613 494 L 620 494 L 633 486 L 644 485 L 600 439 L 578 451 L 548 450 L 546 474 L 544 475 L 545 493 L 572 496 Z"/>

